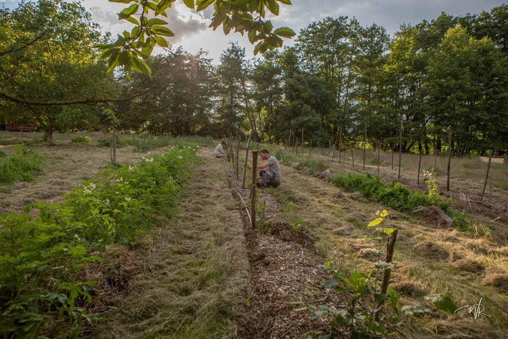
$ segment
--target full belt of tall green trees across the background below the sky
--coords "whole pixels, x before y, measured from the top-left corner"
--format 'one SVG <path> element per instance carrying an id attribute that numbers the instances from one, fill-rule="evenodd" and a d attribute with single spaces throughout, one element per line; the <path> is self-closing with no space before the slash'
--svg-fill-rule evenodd
<path id="1" fill-rule="evenodd" d="M 0 33 L 0 51 L 14 41 L 27 44 L 0 59 L 4 91 L 46 101 L 118 98 L 95 106 L 0 99 L 4 121 L 35 123 L 47 135 L 108 126 L 114 114 L 119 128 L 153 134 L 253 131 L 259 142 L 340 141 L 427 154 L 507 148 L 507 5 L 474 15 L 442 13 L 403 24 L 393 37 L 377 24 L 327 17 L 301 29 L 293 47 L 267 50 L 263 58 L 248 59 L 232 43 L 218 65 L 206 51 L 169 46 L 145 60 L 151 76 L 129 77 L 106 73 L 108 63 L 93 46 L 111 38 L 79 4 L 21 2 L 0 17 L 2 26 L 16 27 Z"/>

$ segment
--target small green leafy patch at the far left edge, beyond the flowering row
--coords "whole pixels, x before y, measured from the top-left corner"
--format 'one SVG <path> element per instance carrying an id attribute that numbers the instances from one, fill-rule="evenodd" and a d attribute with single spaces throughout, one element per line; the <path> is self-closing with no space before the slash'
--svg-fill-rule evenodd
<path id="1" fill-rule="evenodd" d="M 23 144 L 14 145 L 14 155 L 0 161 L 0 183 L 30 181 L 34 172 L 42 171 L 42 156 Z M 5 155 L 5 153 L 4 153 Z"/>

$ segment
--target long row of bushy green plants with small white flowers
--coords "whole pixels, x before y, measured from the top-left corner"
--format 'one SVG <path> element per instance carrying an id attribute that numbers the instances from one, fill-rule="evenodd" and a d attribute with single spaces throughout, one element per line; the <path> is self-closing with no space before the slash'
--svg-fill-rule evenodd
<path id="1" fill-rule="evenodd" d="M 184 145 L 138 166 L 106 169 L 62 203 L 1 215 L 0 333 L 77 336 L 82 321 L 99 320 L 86 310 L 95 282 L 83 281 L 80 271 L 102 261 L 111 244 L 139 243 L 155 225 L 153 215 L 174 215 L 196 150 Z"/>

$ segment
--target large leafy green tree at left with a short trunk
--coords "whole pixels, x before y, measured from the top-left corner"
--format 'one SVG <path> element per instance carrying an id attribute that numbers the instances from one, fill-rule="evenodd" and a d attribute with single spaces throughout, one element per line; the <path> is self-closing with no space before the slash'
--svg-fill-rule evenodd
<path id="1" fill-rule="evenodd" d="M 2 9 L 0 16 L 8 28 L 0 49 L 11 51 L 0 61 L 2 91 L 45 102 L 113 93 L 113 77 L 105 74 L 103 63 L 95 61 L 92 48 L 103 38 L 81 5 L 63 0 L 22 1 L 13 11 Z M 10 47 L 17 46 L 18 39 L 29 43 L 22 43 L 23 48 Z M 0 105 L 11 121 L 36 124 L 45 131 L 48 145 L 54 131 L 65 132 L 93 121 L 93 109 L 84 105 L 13 105 L 7 101 Z"/>

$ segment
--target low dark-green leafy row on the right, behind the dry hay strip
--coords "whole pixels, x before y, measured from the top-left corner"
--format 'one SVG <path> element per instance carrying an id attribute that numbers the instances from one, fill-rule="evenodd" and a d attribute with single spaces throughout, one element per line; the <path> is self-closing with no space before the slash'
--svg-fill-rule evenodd
<path id="1" fill-rule="evenodd" d="M 450 211 L 451 199 L 439 195 L 436 190 L 430 190 L 427 194 L 411 193 L 399 182 L 384 184 L 376 175 L 348 174 L 347 176 L 335 175 L 332 182 L 337 187 L 342 187 L 348 192 L 359 191 L 365 198 L 378 201 L 385 206 L 403 212 L 415 210 L 418 206 L 435 205 L 445 212 Z"/>

